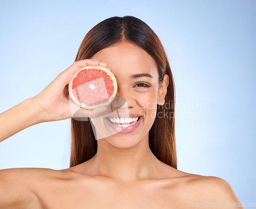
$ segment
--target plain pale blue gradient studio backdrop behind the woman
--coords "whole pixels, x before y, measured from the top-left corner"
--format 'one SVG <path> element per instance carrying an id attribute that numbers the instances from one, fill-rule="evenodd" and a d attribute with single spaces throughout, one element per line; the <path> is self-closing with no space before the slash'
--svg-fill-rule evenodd
<path id="1" fill-rule="evenodd" d="M 255 202 L 256 1 L 1 1 L 4 112 L 75 60 L 87 32 L 112 16 L 145 21 L 176 85 L 178 169 L 218 176 Z M 69 167 L 70 119 L 28 127 L 0 143 L 0 169 Z"/>

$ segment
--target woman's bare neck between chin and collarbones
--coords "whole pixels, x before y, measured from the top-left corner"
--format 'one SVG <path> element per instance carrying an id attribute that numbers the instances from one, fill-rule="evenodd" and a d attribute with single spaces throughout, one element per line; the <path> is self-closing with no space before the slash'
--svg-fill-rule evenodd
<path id="1" fill-rule="evenodd" d="M 120 148 L 105 139 L 97 141 L 97 153 L 88 161 L 90 173 L 114 178 L 118 181 L 135 181 L 158 176 L 164 167 L 148 145 L 148 134 L 135 146 Z"/>

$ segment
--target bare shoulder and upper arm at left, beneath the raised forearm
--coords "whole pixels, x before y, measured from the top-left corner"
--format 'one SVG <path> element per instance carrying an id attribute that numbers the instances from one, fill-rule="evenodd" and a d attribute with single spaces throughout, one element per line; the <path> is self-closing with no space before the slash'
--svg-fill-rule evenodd
<path id="1" fill-rule="evenodd" d="M 38 191 L 48 180 L 61 177 L 68 177 L 68 173 L 46 168 L 2 169 L 0 170 L 0 206 L 1 208 L 40 208 Z"/>

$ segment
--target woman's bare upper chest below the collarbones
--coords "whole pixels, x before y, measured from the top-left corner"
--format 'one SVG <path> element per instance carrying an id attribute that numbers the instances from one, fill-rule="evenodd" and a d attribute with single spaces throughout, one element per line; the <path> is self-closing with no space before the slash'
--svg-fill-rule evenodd
<path id="1" fill-rule="evenodd" d="M 172 194 L 173 193 L 173 194 Z M 40 208 L 181 208 L 175 192 L 152 185 L 62 182 L 41 191 Z"/>

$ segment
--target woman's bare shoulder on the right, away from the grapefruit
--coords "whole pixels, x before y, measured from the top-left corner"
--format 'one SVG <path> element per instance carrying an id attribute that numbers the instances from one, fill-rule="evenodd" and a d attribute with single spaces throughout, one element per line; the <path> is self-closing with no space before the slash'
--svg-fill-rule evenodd
<path id="1" fill-rule="evenodd" d="M 186 191 L 183 194 L 186 201 L 239 202 L 230 184 L 222 178 L 181 172 L 177 181 L 181 190 Z"/>

